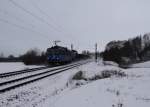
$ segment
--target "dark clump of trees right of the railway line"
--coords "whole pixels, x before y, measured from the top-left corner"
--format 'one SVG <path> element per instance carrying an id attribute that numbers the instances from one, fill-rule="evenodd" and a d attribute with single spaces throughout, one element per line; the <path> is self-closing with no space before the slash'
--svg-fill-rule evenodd
<path id="1" fill-rule="evenodd" d="M 119 64 L 146 61 L 150 60 L 150 44 L 145 43 L 142 36 L 126 41 L 113 41 L 107 44 L 105 51 L 101 55 L 104 60 L 114 61 Z"/>

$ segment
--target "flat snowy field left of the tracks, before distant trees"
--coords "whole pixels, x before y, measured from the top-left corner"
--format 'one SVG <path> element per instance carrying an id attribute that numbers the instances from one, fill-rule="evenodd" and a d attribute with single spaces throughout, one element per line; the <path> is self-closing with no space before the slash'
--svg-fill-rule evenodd
<path id="1" fill-rule="evenodd" d="M 25 65 L 22 62 L 1 62 L 0 63 L 0 73 L 6 73 L 6 72 L 12 72 L 12 71 L 18 71 L 23 69 L 29 69 L 29 68 L 36 68 L 41 67 L 38 65 Z"/>

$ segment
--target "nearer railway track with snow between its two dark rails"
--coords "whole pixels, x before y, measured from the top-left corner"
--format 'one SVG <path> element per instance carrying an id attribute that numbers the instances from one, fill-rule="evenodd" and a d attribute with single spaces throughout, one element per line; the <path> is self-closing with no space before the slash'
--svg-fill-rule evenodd
<path id="1" fill-rule="evenodd" d="M 51 70 L 42 71 L 42 72 L 35 73 L 35 74 L 29 75 L 29 76 L 23 76 L 23 77 L 11 79 L 11 80 L 6 80 L 4 82 L 0 82 L 0 93 L 4 93 L 4 92 L 12 90 L 14 88 L 17 88 L 17 87 L 41 80 L 43 78 L 64 72 L 66 70 L 78 67 L 78 66 L 86 64 L 88 62 L 90 62 L 90 61 L 78 62 L 75 64 L 70 64 L 70 65 L 54 68 Z"/>

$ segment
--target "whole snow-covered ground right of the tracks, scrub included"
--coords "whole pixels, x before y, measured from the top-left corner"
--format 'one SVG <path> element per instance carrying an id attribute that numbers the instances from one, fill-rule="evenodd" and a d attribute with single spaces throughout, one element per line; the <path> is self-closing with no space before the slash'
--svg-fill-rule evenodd
<path id="1" fill-rule="evenodd" d="M 0 94 L 0 107 L 150 107 L 149 71 L 91 62 Z"/>

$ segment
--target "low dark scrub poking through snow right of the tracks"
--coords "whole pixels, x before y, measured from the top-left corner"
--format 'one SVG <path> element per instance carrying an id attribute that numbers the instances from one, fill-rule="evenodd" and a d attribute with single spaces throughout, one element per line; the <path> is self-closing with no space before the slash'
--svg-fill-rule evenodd
<path id="1" fill-rule="evenodd" d="M 75 73 L 67 82 L 66 86 L 77 88 L 81 85 L 85 85 L 89 82 L 99 80 L 99 79 L 105 79 L 110 78 L 111 76 L 117 76 L 117 77 L 124 77 L 126 74 L 120 70 L 103 70 L 100 73 L 97 73 L 95 75 L 86 76 L 86 71 L 79 71 Z"/>

